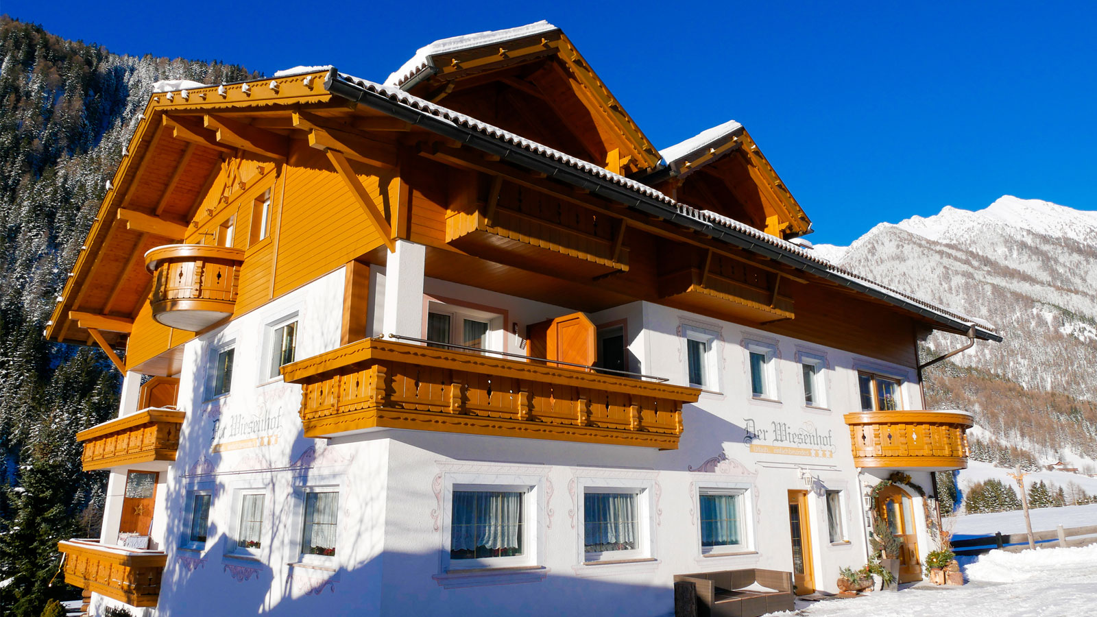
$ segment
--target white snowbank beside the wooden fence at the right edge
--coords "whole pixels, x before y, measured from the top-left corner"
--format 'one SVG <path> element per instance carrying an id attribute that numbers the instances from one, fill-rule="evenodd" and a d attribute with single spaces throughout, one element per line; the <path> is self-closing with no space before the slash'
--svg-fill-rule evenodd
<path id="1" fill-rule="evenodd" d="M 985 583 L 1018 583 L 1058 579 L 1064 570 L 1093 570 L 1097 545 L 1074 548 L 1029 549 L 1021 552 L 991 551 L 968 566 L 968 579 Z"/>

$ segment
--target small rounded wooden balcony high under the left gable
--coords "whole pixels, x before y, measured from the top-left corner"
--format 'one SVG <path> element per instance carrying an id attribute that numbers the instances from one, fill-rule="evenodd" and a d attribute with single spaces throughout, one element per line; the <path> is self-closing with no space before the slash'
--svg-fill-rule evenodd
<path id="1" fill-rule="evenodd" d="M 233 314 L 244 251 L 225 246 L 173 244 L 145 254 L 152 272 L 152 318 L 199 332 Z"/>

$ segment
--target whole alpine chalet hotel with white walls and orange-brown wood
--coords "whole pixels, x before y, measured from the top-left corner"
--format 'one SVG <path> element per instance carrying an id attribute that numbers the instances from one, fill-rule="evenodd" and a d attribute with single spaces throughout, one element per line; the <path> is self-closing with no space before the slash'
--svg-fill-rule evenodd
<path id="1" fill-rule="evenodd" d="M 138 121 L 46 330 L 125 374 L 88 614 L 758 614 L 877 518 L 923 577 L 972 418 L 917 344 L 1000 336 L 813 255 L 740 124 L 656 149 L 545 22 Z"/>

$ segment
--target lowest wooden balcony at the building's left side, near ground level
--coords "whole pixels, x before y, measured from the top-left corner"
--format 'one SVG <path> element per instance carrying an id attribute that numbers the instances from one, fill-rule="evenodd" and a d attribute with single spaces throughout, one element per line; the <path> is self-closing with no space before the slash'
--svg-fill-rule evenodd
<path id="1" fill-rule="evenodd" d="M 156 606 L 168 559 L 163 551 L 106 546 L 95 539 L 63 540 L 57 549 L 66 583 L 129 606 Z"/>

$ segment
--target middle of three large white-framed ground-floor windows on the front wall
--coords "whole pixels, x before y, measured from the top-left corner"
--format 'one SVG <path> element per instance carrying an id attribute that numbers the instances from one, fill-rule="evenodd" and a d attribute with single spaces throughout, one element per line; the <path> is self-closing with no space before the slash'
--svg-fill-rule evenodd
<path id="1" fill-rule="evenodd" d="M 647 557 L 647 517 L 643 489 L 587 486 L 583 494 L 585 560 Z"/>

